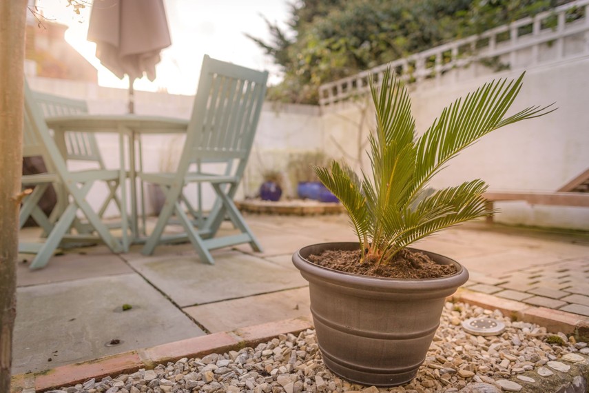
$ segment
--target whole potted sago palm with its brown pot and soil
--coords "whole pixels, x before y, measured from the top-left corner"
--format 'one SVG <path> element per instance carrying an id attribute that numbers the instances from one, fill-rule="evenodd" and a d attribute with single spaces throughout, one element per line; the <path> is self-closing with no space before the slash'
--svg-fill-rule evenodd
<path id="1" fill-rule="evenodd" d="M 316 167 L 347 209 L 357 243 L 301 248 L 293 263 L 309 281 L 311 312 L 325 365 L 349 381 L 400 385 L 422 365 L 446 296 L 466 283 L 457 261 L 408 248 L 464 221 L 491 214 L 482 180 L 432 192 L 428 182 L 449 159 L 485 134 L 550 112 L 506 112 L 517 80 L 492 81 L 442 111 L 417 137 L 406 88 L 388 70 L 371 81 L 376 127 L 369 136 L 371 173 L 345 163 Z M 549 105 L 550 106 L 550 105 Z"/>

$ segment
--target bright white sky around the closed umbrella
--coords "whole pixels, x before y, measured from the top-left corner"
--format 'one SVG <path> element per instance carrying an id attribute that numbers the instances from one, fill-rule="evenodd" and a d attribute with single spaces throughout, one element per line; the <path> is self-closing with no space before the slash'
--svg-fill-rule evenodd
<path id="1" fill-rule="evenodd" d="M 96 0 L 99 1 L 99 0 Z M 264 18 L 285 26 L 291 0 L 164 0 L 172 46 L 161 52 L 156 80 L 134 83 L 136 90 L 167 90 L 172 94 L 196 92 L 203 56 L 258 70 L 269 70 L 270 83 L 280 81 L 280 69 L 244 33 L 269 40 Z M 88 1 L 90 3 L 90 1 Z M 68 0 L 37 0 L 37 8 L 51 21 L 65 24 L 65 40 L 98 69 L 99 85 L 127 88 L 127 77 L 118 79 L 96 59 L 96 45 L 86 41 L 92 6 L 78 15 Z"/>

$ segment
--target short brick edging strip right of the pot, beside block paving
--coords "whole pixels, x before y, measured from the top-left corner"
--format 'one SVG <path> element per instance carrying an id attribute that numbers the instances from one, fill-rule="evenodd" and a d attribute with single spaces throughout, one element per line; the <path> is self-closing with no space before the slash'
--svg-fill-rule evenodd
<path id="1" fill-rule="evenodd" d="M 506 316 L 511 316 L 517 321 L 537 323 L 548 332 L 563 332 L 571 334 L 579 341 L 589 341 L 589 317 L 572 312 L 553 310 L 545 307 L 537 307 L 520 301 L 503 299 L 490 294 L 473 292 L 459 288 L 450 296 L 453 301 L 462 301 L 472 305 L 478 305 L 490 310 L 499 310 Z"/>

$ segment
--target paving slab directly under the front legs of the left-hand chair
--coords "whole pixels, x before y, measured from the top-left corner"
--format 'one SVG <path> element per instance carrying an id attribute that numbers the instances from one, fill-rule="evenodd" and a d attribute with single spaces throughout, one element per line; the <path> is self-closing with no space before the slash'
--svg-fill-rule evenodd
<path id="1" fill-rule="evenodd" d="M 19 262 L 17 285 L 58 283 L 132 272 L 120 256 L 113 254 L 105 245 L 99 245 L 53 256 L 42 270 L 30 270 L 28 263 Z"/>

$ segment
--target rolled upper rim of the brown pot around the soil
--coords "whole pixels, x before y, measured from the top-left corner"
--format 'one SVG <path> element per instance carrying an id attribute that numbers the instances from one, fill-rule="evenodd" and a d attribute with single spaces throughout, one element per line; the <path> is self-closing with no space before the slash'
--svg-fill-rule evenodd
<path id="1" fill-rule="evenodd" d="M 426 288 L 431 290 L 440 290 L 442 288 L 457 288 L 468 281 L 468 270 L 463 265 L 455 261 L 454 259 L 448 258 L 447 256 L 437 254 L 435 252 L 429 252 L 418 248 L 408 248 L 409 250 L 417 250 L 424 252 L 424 254 L 431 256 L 431 258 L 437 263 L 453 264 L 457 268 L 455 274 L 449 276 L 443 276 L 433 279 L 393 279 L 389 277 L 377 277 L 377 276 L 363 276 L 362 274 L 355 274 L 349 272 L 342 272 L 331 268 L 325 268 L 320 265 L 306 259 L 305 256 L 320 252 L 323 250 L 355 250 L 360 247 L 358 242 L 330 242 L 330 243 L 316 243 L 307 245 L 297 250 L 293 256 L 292 261 L 304 278 L 307 281 L 327 281 L 336 285 L 344 286 L 367 286 L 373 289 L 380 288 L 381 290 L 387 290 L 394 286 L 397 289 L 404 290 L 417 290 L 420 288 L 420 292 Z M 313 250 L 313 251 L 311 251 Z"/>

